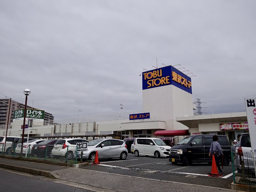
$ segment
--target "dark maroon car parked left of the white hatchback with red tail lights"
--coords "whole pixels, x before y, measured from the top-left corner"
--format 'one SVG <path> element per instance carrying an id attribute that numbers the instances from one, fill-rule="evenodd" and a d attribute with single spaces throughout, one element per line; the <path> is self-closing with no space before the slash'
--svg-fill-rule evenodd
<path id="1" fill-rule="evenodd" d="M 57 139 L 45 140 L 41 143 L 33 145 L 31 155 L 37 157 L 45 157 L 45 153 L 49 158 L 52 158 L 52 149 Z"/>

